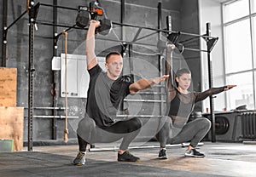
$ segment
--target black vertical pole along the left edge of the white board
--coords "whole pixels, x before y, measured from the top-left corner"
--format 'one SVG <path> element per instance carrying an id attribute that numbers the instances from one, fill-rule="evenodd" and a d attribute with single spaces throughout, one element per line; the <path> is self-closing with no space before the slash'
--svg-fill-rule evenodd
<path id="1" fill-rule="evenodd" d="M 53 1 L 53 23 L 56 25 L 57 24 L 57 8 L 56 6 L 57 4 L 57 0 Z M 53 26 L 53 56 L 57 56 L 57 43 L 58 43 L 58 38 L 55 37 L 55 34 L 57 33 L 57 26 Z M 57 119 L 55 118 L 55 116 L 57 115 L 57 110 L 55 109 L 55 107 L 58 106 L 58 94 L 56 94 L 56 87 L 57 87 L 57 83 L 58 83 L 58 78 L 59 78 L 59 71 L 53 71 L 53 78 L 52 78 L 52 98 L 53 98 L 53 116 L 54 118 L 52 119 L 52 140 L 57 140 Z"/>

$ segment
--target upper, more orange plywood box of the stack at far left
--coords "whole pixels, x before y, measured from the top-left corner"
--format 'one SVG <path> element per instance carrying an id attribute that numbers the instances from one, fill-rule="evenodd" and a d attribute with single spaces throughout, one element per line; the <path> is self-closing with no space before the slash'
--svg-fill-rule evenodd
<path id="1" fill-rule="evenodd" d="M 0 106 L 16 106 L 17 69 L 0 67 Z"/>

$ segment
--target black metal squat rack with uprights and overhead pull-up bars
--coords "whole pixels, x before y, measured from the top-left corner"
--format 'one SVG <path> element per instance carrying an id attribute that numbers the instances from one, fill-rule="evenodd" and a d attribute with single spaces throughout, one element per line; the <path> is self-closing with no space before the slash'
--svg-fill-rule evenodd
<path id="1" fill-rule="evenodd" d="M 35 71 L 34 68 L 34 54 L 33 54 L 33 42 L 34 42 L 34 30 L 35 27 L 37 27 L 37 24 L 41 24 L 41 25 L 45 25 L 45 26 L 53 26 L 54 27 L 54 31 L 56 32 L 57 29 L 56 27 L 66 27 L 67 29 L 65 31 L 69 31 L 70 29 L 79 29 L 79 30 L 87 30 L 87 29 L 81 29 L 79 27 L 76 26 L 66 26 L 66 25 L 61 25 L 61 24 L 57 24 L 57 9 L 70 9 L 70 10 L 76 10 L 78 11 L 78 9 L 73 9 L 73 8 L 69 8 L 69 7 L 64 7 L 64 6 L 58 6 L 57 5 L 57 0 L 54 0 L 53 4 L 46 4 L 46 3 L 34 3 L 34 0 L 27 0 L 29 3 L 28 5 L 28 9 L 26 9 L 25 12 L 23 12 L 22 14 L 20 14 L 20 16 L 13 22 L 11 23 L 9 26 L 7 26 L 7 9 L 8 9 L 8 2 L 7 0 L 3 0 L 3 60 L 2 60 L 2 66 L 6 66 L 6 50 L 7 50 L 7 33 L 8 30 L 11 26 L 13 26 L 15 24 L 15 22 L 17 22 L 18 20 L 20 20 L 20 18 L 22 16 L 24 16 L 27 12 L 29 15 L 29 81 L 28 81 L 28 151 L 32 151 L 32 125 L 33 125 L 33 73 Z M 160 39 L 160 32 L 167 32 L 167 33 L 177 33 L 177 31 L 172 31 L 171 29 L 161 29 L 160 26 L 160 21 L 161 21 L 161 3 L 159 3 L 158 5 L 158 29 L 155 28 L 151 28 L 151 27 L 146 27 L 146 26 L 135 26 L 135 25 L 131 25 L 131 24 L 125 24 L 123 23 L 124 19 L 125 19 L 125 0 L 120 0 L 121 1 L 121 22 L 112 22 L 113 25 L 116 26 L 121 26 L 122 27 L 122 37 L 121 40 L 114 40 L 114 39 L 106 39 L 104 37 L 96 37 L 96 39 L 99 40 L 107 40 L 107 41 L 112 41 L 112 42 L 119 42 L 119 43 L 126 43 L 126 44 L 138 44 L 138 45 L 145 45 L 145 46 L 154 46 L 152 44 L 148 44 L 148 43 L 138 43 L 138 40 L 141 40 L 143 38 L 149 37 L 155 33 L 159 33 L 159 39 Z M 48 7 L 53 7 L 54 8 L 54 23 L 48 23 L 48 22 L 44 22 L 44 21 L 40 21 L 40 20 L 36 20 L 37 18 L 37 14 L 38 14 L 38 8 L 39 6 L 48 6 Z M 123 40 L 123 35 L 124 35 L 124 31 L 123 31 L 123 26 L 127 26 L 127 27 L 134 27 L 134 28 L 138 28 L 137 30 L 137 34 L 135 35 L 134 39 L 132 41 L 125 41 Z M 150 30 L 150 31 L 154 31 L 151 34 L 148 34 L 146 36 L 140 37 L 138 38 L 140 32 L 145 29 L 145 30 Z M 62 33 L 62 32 L 61 32 Z M 55 43 L 55 47 L 57 45 L 57 41 L 58 41 L 58 37 L 61 36 L 61 33 L 54 35 L 54 43 Z M 192 36 L 193 38 L 195 37 L 203 37 L 206 42 L 207 42 L 207 50 L 201 50 L 201 49 L 189 49 L 189 48 L 184 48 L 186 50 L 191 50 L 191 51 L 199 51 L 199 52 L 207 52 L 207 62 L 208 62 L 208 80 L 209 80 L 209 88 L 212 88 L 212 59 L 211 59 L 211 52 L 212 49 L 215 45 L 215 43 L 217 43 L 218 41 L 218 37 L 211 37 L 211 24 L 207 23 L 207 33 L 204 35 L 198 35 L 198 34 L 192 34 L 192 33 L 186 33 L 186 32 L 179 32 L 181 35 L 188 35 L 188 36 Z M 56 48 L 55 48 L 56 49 Z M 56 54 L 56 50 L 54 50 L 54 55 Z M 160 60 L 160 58 L 159 58 Z M 159 68 L 161 71 L 161 68 Z M 58 76 L 53 76 L 54 79 L 55 77 Z M 54 98 L 54 106 L 56 104 L 55 98 Z M 54 111 L 54 115 L 55 115 L 55 109 Z M 212 125 L 215 125 L 215 116 L 214 116 L 214 107 L 213 107 L 213 97 L 210 96 L 210 113 L 211 113 L 211 121 L 212 121 Z M 55 125 L 55 122 L 53 123 L 53 125 Z M 215 137 L 215 126 L 212 126 L 212 142 L 216 141 L 216 137 Z"/>

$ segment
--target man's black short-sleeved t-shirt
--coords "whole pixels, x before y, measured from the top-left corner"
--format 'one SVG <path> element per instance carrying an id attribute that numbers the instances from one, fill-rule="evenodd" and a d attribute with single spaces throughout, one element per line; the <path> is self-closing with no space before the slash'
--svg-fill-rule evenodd
<path id="1" fill-rule="evenodd" d="M 119 105 L 130 94 L 130 77 L 123 76 L 112 80 L 99 65 L 89 70 L 90 83 L 86 112 L 100 128 L 114 123 Z"/>

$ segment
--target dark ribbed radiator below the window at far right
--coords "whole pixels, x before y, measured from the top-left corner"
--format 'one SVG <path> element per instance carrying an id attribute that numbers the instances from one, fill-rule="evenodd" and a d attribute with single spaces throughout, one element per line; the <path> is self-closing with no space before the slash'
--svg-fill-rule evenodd
<path id="1" fill-rule="evenodd" d="M 241 134 L 243 139 L 256 139 L 256 112 L 241 114 Z"/>

